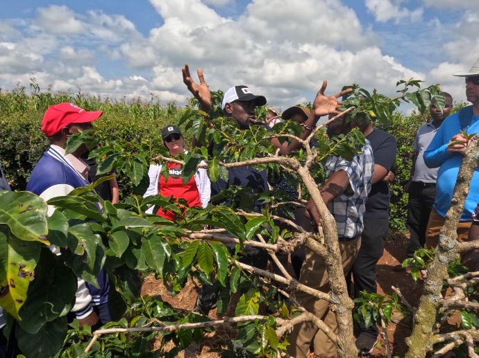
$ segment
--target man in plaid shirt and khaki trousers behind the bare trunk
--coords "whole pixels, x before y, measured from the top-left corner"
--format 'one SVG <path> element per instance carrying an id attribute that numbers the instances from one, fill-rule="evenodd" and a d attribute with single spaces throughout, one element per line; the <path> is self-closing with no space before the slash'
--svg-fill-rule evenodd
<path id="1" fill-rule="evenodd" d="M 337 136 L 351 132 L 358 127 L 364 134 L 367 121 L 358 118 L 339 117 L 328 124 L 328 136 Z M 344 273 L 351 267 L 361 246 L 363 216 L 369 191 L 371 190 L 374 159 L 369 141 L 362 146 L 351 161 L 340 156 L 328 156 L 325 164 L 328 179 L 321 188 L 321 198 L 335 218 L 339 249 Z M 310 200 L 306 206 L 307 214 L 317 225 L 321 223 L 321 215 Z M 308 250 L 306 260 L 301 267 L 299 282 L 319 289 L 330 291 L 325 259 Z M 329 308 L 328 301 L 319 300 L 304 292 L 296 292 L 296 299 L 308 312 L 321 319 L 333 332 L 337 331 L 336 316 Z M 310 346 L 314 348 L 314 357 L 337 357 L 337 349 L 333 341 L 312 322 L 295 325 L 289 336 L 288 354 L 296 358 L 310 357 Z"/>

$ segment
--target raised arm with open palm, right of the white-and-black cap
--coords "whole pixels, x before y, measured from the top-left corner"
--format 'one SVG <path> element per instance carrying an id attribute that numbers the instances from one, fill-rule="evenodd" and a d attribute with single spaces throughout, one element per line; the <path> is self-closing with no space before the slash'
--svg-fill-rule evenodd
<path id="1" fill-rule="evenodd" d="M 312 129 L 316 127 L 316 124 L 321 116 L 341 113 L 341 111 L 339 111 L 339 107 L 342 105 L 342 102 L 338 100 L 338 98 L 352 91 L 352 89 L 345 89 L 344 91 L 336 93 L 333 96 L 326 96 L 324 91 L 326 91 L 327 86 L 328 81 L 324 80 L 312 103 L 311 116 L 306 118 L 306 120 L 301 124 L 303 126 L 303 132 L 300 134 L 299 138 L 308 138 L 312 132 Z M 272 138 L 271 143 L 275 147 L 280 148 L 280 153 L 283 155 L 289 155 L 294 152 L 294 150 L 301 147 L 301 143 L 296 140 L 293 140 L 291 143 L 285 141 L 283 144 L 281 144 L 278 138 Z"/>

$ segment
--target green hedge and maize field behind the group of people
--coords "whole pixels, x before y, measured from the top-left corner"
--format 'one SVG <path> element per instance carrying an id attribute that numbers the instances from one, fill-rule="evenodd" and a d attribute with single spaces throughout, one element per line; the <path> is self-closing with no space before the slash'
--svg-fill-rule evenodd
<path id="1" fill-rule="evenodd" d="M 0 91 L 0 160 L 12 189 L 24 190 L 33 166 L 47 149 L 48 141 L 40 132 L 40 123 L 47 107 L 60 102 L 72 102 L 86 110 L 102 110 L 103 116 L 96 121 L 96 129 L 128 141 L 161 142 L 162 127 L 176 123 L 181 110 L 174 102 L 162 106 L 155 98 L 142 102 L 101 99 L 80 91 L 42 92 L 36 82 L 31 84 L 31 93 L 27 93 L 24 87 L 13 91 Z M 456 106 L 455 110 L 460 107 L 463 105 Z M 396 113 L 390 123 L 381 127 L 395 136 L 398 142 L 394 168 L 396 179 L 391 185 L 390 206 L 390 227 L 394 231 L 405 231 L 407 193 L 403 186 L 410 175 L 415 134 L 427 120 L 427 115 L 405 116 Z M 185 141 L 190 142 L 187 133 Z M 129 192 L 131 188 L 122 186 L 122 183 L 119 178 L 121 192 Z"/>

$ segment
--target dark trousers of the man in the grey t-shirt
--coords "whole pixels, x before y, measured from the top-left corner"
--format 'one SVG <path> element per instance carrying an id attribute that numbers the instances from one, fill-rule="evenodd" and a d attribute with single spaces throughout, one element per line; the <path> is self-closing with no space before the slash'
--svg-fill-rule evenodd
<path id="1" fill-rule="evenodd" d="M 426 227 L 432 204 L 436 199 L 436 184 L 412 181 L 409 190 L 409 202 L 407 205 L 407 229 L 411 234 L 407 246 L 407 257 L 412 258 L 414 251 L 424 247 L 426 243 Z"/>

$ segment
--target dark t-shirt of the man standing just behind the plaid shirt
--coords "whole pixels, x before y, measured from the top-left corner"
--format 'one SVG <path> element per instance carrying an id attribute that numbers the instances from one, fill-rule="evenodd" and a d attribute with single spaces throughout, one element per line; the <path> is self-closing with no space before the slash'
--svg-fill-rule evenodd
<path id="1" fill-rule="evenodd" d="M 378 164 L 391 170 L 396 161 L 397 144 L 396 138 L 380 129 L 373 129 L 373 132 L 366 137 L 373 148 L 374 164 Z M 389 216 L 389 186 L 384 181 L 378 181 L 371 186 L 371 192 L 366 202 L 365 215 L 373 217 Z"/>

